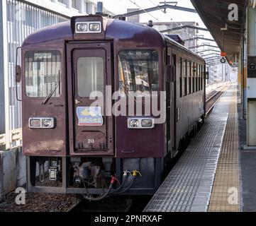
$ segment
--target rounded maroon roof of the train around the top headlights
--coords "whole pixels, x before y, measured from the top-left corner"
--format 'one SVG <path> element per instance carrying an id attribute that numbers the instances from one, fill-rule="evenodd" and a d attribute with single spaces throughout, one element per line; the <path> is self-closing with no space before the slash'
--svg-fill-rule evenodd
<path id="1" fill-rule="evenodd" d="M 102 16 L 79 16 L 73 17 L 70 21 L 65 21 L 62 23 L 56 23 L 55 25 L 50 25 L 45 28 L 41 28 L 36 30 L 32 34 L 26 37 L 24 40 L 22 47 L 26 47 L 30 44 L 40 44 L 44 42 L 65 42 L 74 39 L 74 32 L 72 30 L 72 21 L 75 18 L 101 18 L 103 21 L 103 27 L 105 32 L 106 40 L 118 39 L 120 42 L 127 42 L 130 39 L 134 39 L 136 42 L 143 44 L 147 44 L 150 47 L 160 47 L 164 46 L 165 42 L 172 43 L 177 47 L 184 49 L 184 51 L 193 54 L 196 57 L 201 58 L 199 55 L 191 52 L 191 50 L 184 47 L 182 44 L 172 40 L 172 38 L 167 37 L 167 35 L 163 35 L 158 32 L 154 28 L 150 28 L 145 25 L 140 25 L 138 23 L 129 23 L 123 20 L 116 20 L 112 18 L 103 18 Z M 85 37 L 85 35 L 84 35 Z M 91 38 L 94 36 L 90 36 Z M 102 39 L 102 38 L 101 38 Z"/>

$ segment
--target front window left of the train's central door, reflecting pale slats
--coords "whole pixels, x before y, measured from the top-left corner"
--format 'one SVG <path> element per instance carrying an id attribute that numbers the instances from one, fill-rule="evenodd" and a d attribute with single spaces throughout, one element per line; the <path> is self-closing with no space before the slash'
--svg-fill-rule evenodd
<path id="1" fill-rule="evenodd" d="M 61 54 L 59 51 L 28 51 L 25 54 L 26 95 L 61 95 Z"/>

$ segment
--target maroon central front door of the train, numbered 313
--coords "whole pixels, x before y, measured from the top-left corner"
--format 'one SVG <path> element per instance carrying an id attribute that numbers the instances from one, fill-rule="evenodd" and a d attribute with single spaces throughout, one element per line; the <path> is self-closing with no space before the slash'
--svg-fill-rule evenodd
<path id="1" fill-rule="evenodd" d="M 111 105 L 106 102 L 111 98 L 111 44 L 70 45 L 67 50 L 73 84 L 70 154 L 113 155 L 113 119 L 106 115 L 106 105 Z"/>

